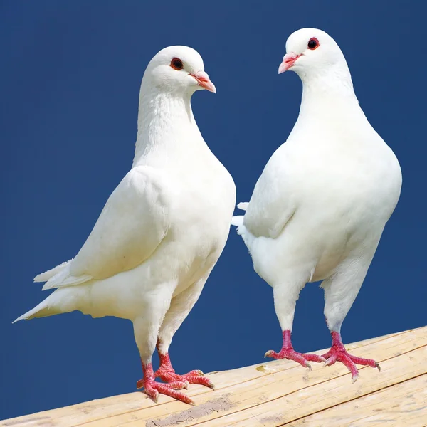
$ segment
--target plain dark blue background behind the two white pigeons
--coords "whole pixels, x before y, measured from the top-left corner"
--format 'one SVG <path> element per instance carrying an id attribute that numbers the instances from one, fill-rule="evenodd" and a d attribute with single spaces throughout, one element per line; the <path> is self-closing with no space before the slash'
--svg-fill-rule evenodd
<path id="1" fill-rule="evenodd" d="M 426 325 L 426 9 L 407 0 L 1 1 L 0 418 L 135 390 L 141 369 L 129 321 L 79 312 L 11 321 L 46 297 L 33 277 L 78 252 L 130 169 L 142 73 L 172 44 L 204 57 L 218 94 L 194 95 L 196 120 L 247 201 L 299 110 L 299 78 L 277 73 L 286 39 L 307 26 L 335 38 L 404 174 L 344 342 Z M 307 285 L 297 350 L 330 344 L 322 310 L 322 291 Z M 232 228 L 174 337 L 174 366 L 242 367 L 280 344 L 271 288 Z"/>

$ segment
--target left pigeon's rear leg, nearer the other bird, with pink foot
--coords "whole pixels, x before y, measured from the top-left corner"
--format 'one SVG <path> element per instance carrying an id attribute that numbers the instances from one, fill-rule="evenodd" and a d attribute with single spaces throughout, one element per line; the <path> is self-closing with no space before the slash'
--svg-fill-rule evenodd
<path id="1" fill-rule="evenodd" d="M 167 310 L 167 313 L 164 316 L 162 326 L 159 330 L 159 337 L 157 339 L 157 351 L 159 352 L 160 367 L 154 374 L 164 382 L 171 383 L 175 381 L 188 381 L 189 384 L 201 384 L 214 389 L 214 384 L 212 384 L 209 378 L 203 376 L 202 371 L 190 371 L 184 375 L 176 374 L 169 357 L 169 345 L 172 342 L 172 337 L 176 330 L 181 326 L 181 323 L 184 322 L 184 319 L 189 314 L 191 308 L 194 307 L 194 304 L 199 299 L 201 290 L 204 287 L 209 273 L 207 273 L 204 278 L 201 278 L 201 280 L 189 286 L 189 288 L 186 288 L 184 292 L 173 297 L 169 310 Z"/>

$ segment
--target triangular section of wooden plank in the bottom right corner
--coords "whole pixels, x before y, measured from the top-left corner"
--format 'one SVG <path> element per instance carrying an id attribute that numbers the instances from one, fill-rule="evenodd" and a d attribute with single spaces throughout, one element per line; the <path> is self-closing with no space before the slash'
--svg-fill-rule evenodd
<path id="1" fill-rule="evenodd" d="M 421 427 L 427 423 L 427 374 L 301 418 L 286 427 Z"/>

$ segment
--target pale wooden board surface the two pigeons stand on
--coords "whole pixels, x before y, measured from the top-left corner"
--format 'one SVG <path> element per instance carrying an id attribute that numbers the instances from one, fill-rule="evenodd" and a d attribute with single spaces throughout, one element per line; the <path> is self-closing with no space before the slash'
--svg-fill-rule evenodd
<path id="1" fill-rule="evenodd" d="M 141 392 L 0 421 L 1 427 L 379 427 L 427 426 L 427 327 L 346 346 L 375 359 L 352 384 L 342 364 L 312 371 L 275 360 L 209 374 L 216 391 L 190 386 L 189 406 Z M 321 354 L 325 350 L 316 352 Z"/>

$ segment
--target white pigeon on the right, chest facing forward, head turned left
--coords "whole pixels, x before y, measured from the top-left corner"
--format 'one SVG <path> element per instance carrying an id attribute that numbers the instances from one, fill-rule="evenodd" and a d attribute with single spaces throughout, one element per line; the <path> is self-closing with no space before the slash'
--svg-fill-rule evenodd
<path id="1" fill-rule="evenodd" d="M 273 287 L 283 347 L 265 356 L 305 367 L 310 361 L 342 362 L 356 381 L 355 364 L 379 364 L 346 351 L 341 325 L 399 200 L 401 169 L 359 107 L 337 43 L 324 31 L 303 28 L 288 38 L 286 52 L 279 74 L 292 70 L 300 76 L 300 115 L 265 166 L 251 201 L 238 204 L 246 213 L 232 223 L 255 271 Z M 332 334 L 332 347 L 322 357 L 295 352 L 290 339 L 300 291 L 317 280 L 323 280 Z"/>

